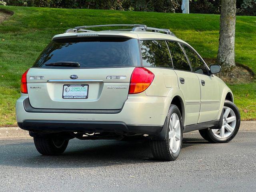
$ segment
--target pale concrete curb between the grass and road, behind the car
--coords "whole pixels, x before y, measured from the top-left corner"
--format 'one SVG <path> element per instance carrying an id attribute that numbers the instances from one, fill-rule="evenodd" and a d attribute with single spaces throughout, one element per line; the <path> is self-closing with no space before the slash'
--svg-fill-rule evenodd
<path id="1" fill-rule="evenodd" d="M 242 121 L 240 125 L 240 131 L 255 130 L 256 121 Z M 189 133 L 195 133 L 189 132 Z M 188 133 L 188 134 L 189 134 Z M 28 131 L 22 130 L 18 127 L 0 127 L 0 139 L 4 138 L 30 138 Z"/>

